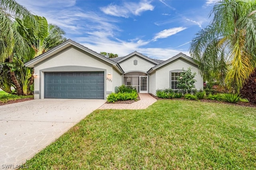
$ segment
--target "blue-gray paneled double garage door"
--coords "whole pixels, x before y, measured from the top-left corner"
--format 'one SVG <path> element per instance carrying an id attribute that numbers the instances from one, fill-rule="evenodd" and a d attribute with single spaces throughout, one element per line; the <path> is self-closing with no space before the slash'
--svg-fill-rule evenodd
<path id="1" fill-rule="evenodd" d="M 104 72 L 45 72 L 44 98 L 104 99 Z"/>

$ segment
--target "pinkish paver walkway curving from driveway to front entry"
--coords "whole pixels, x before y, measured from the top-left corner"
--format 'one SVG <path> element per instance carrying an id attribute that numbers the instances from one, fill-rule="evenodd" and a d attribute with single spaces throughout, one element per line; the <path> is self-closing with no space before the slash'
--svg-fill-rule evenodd
<path id="1" fill-rule="evenodd" d="M 140 100 L 132 104 L 104 104 L 99 109 L 146 109 L 157 100 L 146 93 L 140 93 Z"/>

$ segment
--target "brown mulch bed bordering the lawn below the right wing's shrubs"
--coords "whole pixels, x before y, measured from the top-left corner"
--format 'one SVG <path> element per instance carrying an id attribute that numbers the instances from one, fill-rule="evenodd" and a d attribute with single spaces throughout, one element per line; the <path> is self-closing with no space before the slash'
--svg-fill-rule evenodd
<path id="1" fill-rule="evenodd" d="M 162 98 L 158 98 L 157 96 L 154 96 L 151 93 L 150 93 L 150 96 L 152 96 L 156 100 L 187 100 L 187 99 L 184 99 L 184 98 L 162 99 Z M 216 100 L 208 100 L 208 99 L 202 99 L 200 101 L 201 102 L 209 102 L 209 103 L 229 104 L 229 105 L 234 105 L 234 106 L 256 107 L 256 104 L 251 104 L 249 102 L 248 103 L 247 102 L 228 103 L 228 102 L 219 102 L 219 101 L 216 101 Z"/>

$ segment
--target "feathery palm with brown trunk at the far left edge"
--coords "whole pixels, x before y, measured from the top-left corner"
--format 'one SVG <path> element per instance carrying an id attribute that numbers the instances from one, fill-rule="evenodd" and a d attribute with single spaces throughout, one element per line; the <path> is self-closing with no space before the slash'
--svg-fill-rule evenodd
<path id="1" fill-rule="evenodd" d="M 30 53 L 28 43 L 14 24 L 16 18 L 25 17 L 31 25 L 36 25 L 34 16 L 15 0 L 0 0 L 0 62 L 12 63 L 15 49 L 18 49 L 21 55 Z M 38 28 L 35 26 L 34 29 L 37 31 Z M 22 87 L 14 70 L 10 69 L 9 74 L 17 94 L 22 95 Z"/>

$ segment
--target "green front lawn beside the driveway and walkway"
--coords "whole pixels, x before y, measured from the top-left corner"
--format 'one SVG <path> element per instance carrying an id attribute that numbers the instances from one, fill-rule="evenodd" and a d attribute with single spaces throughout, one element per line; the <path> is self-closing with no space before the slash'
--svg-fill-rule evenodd
<path id="1" fill-rule="evenodd" d="M 256 109 L 158 100 L 96 110 L 26 164 L 29 169 L 255 169 Z"/>

